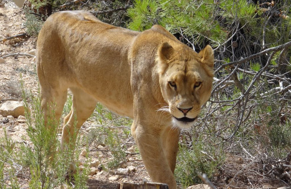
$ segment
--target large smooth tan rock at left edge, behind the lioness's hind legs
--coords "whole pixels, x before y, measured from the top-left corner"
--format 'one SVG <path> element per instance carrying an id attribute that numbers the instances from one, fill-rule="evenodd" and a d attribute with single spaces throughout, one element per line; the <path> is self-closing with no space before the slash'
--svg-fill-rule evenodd
<path id="1" fill-rule="evenodd" d="M 0 107 L 0 114 L 3 117 L 12 115 L 17 118 L 19 115 L 24 115 L 24 105 L 18 101 L 5 101 Z"/>

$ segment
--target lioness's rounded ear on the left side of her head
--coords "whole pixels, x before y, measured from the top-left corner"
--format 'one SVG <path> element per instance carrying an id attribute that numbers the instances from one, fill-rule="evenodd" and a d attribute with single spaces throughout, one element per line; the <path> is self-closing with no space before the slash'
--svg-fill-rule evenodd
<path id="1" fill-rule="evenodd" d="M 159 74 L 164 74 L 169 66 L 169 60 L 173 56 L 174 48 L 167 42 L 164 42 L 158 49 L 157 62 Z"/>

